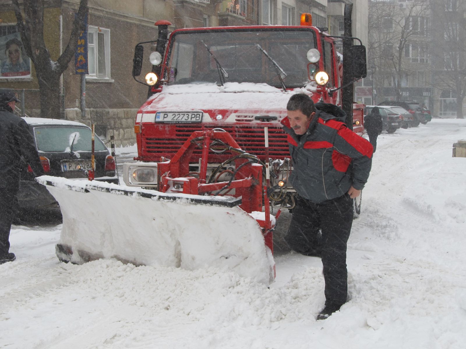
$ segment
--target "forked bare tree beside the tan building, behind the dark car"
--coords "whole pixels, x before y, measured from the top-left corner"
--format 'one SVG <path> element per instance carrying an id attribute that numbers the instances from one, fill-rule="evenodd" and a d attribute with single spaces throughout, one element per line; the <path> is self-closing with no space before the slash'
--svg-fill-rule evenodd
<path id="1" fill-rule="evenodd" d="M 24 20 L 18 0 L 13 0 L 14 14 L 27 56 L 34 63 L 39 81 L 41 117 L 60 119 L 60 76 L 74 57 L 79 34 L 84 30 L 88 0 L 81 0 L 73 22 L 69 42 L 62 55 L 52 60 L 44 41 L 44 1 L 24 0 Z"/>

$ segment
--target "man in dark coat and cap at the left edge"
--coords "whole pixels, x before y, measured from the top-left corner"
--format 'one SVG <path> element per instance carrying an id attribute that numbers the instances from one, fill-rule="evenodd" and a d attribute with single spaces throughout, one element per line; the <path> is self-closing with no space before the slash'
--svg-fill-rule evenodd
<path id="1" fill-rule="evenodd" d="M 10 249 L 10 229 L 17 211 L 21 162 L 34 175 L 43 175 L 41 160 L 26 121 L 13 114 L 19 100 L 12 90 L 0 89 L 0 264 L 16 259 Z"/>

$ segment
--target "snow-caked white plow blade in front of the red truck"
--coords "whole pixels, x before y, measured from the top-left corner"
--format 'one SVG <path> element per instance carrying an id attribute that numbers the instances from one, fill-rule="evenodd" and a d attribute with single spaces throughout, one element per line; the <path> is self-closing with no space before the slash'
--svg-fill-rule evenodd
<path id="1" fill-rule="evenodd" d="M 135 265 L 229 268 L 268 284 L 273 257 L 257 221 L 240 199 L 164 194 L 97 181 L 41 176 L 60 204 L 56 253 L 81 264 L 117 258 Z"/>

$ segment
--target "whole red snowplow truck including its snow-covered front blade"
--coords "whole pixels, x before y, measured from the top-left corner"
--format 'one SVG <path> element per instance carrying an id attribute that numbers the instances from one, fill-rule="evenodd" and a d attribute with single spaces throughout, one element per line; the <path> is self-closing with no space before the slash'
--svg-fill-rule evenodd
<path id="1" fill-rule="evenodd" d="M 312 26 L 308 13 L 301 26 L 171 34 L 170 22 L 156 22 L 158 40 L 135 49 L 133 76 L 149 86 L 149 97 L 134 125 L 138 162 L 123 166 L 126 186 L 38 179 L 62 209 L 58 258 L 213 266 L 273 282 L 272 231 L 281 211 L 274 216 L 270 208 L 294 206 L 280 124 L 290 96 L 339 105 L 347 125 L 363 131 L 363 105 L 353 103 L 352 84 L 366 75 L 365 47 L 353 45 L 348 8 L 344 38 Z M 343 56 L 336 51 L 340 39 Z M 144 45 L 154 44 L 151 71 L 140 80 Z M 80 224 L 83 217 L 99 224 Z"/>

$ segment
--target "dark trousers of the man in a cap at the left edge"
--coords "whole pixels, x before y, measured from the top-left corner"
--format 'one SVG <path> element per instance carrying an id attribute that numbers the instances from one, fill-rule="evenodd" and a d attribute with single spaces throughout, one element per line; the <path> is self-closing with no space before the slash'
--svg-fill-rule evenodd
<path id="1" fill-rule="evenodd" d="M 17 192 L 17 188 L 0 188 L 0 258 L 6 257 L 10 248 L 8 239 L 18 207 Z"/>

